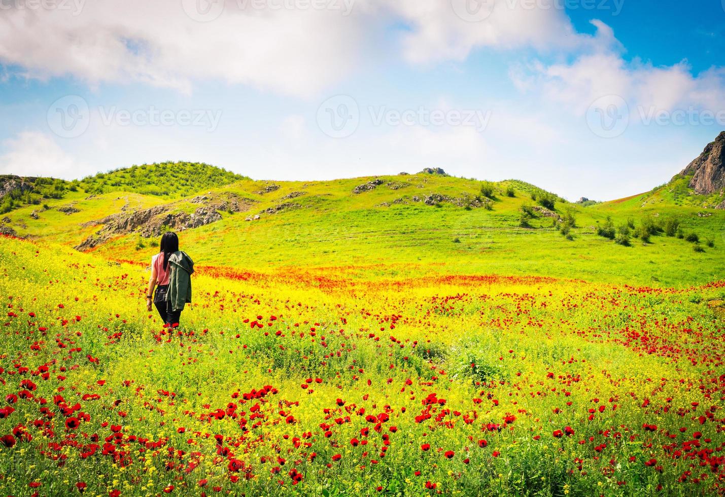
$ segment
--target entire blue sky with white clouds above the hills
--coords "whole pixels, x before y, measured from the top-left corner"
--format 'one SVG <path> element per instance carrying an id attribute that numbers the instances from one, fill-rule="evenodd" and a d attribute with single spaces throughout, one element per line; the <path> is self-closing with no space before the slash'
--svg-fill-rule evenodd
<path id="1" fill-rule="evenodd" d="M 25 1 L 0 9 L 0 174 L 432 166 L 615 199 L 725 130 L 725 0 Z"/>

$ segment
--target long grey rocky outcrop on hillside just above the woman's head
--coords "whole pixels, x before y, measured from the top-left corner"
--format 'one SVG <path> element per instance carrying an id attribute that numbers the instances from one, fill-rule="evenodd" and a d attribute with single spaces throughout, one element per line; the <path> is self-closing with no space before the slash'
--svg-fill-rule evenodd
<path id="1" fill-rule="evenodd" d="M 241 212 L 249 209 L 251 201 L 239 199 L 233 193 L 229 193 L 225 199 L 212 199 L 209 197 L 195 197 L 191 199 L 194 204 L 206 204 L 198 207 L 194 212 L 175 212 L 176 204 L 154 206 L 149 209 L 126 214 L 111 214 L 101 220 L 86 222 L 83 227 L 102 225 L 101 229 L 94 235 L 86 238 L 83 243 L 75 246 L 76 250 L 85 251 L 94 248 L 109 240 L 114 235 L 126 235 L 128 233 L 139 233 L 145 238 L 160 236 L 167 230 L 183 231 L 195 227 L 210 225 L 222 219 L 219 212 Z"/>

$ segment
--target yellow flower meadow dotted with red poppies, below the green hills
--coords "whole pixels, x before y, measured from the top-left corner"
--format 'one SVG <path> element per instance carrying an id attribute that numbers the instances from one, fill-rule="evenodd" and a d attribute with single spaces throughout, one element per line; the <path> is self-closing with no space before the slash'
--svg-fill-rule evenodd
<path id="1" fill-rule="evenodd" d="M 0 238 L 0 493 L 725 493 L 725 282 L 385 274 L 202 262 L 164 328 L 146 264 Z"/>

